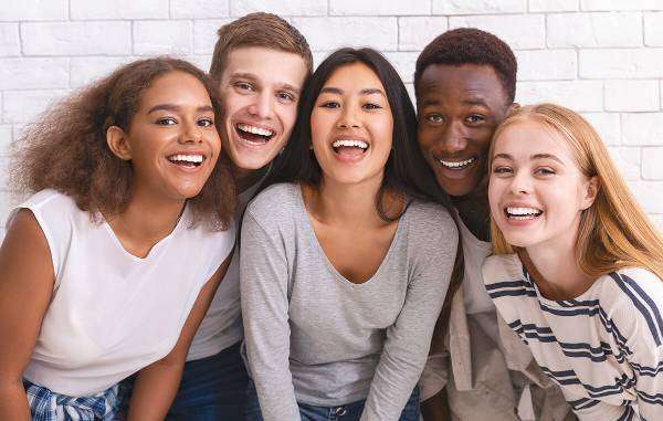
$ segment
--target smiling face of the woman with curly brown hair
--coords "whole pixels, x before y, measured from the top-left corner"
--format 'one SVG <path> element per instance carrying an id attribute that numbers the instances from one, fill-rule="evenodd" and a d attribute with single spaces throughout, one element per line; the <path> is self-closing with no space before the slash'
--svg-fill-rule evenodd
<path id="1" fill-rule="evenodd" d="M 113 130 L 122 131 L 115 127 L 109 133 Z M 176 200 L 200 192 L 221 150 L 206 87 L 179 71 L 151 82 L 140 96 L 128 133 L 123 131 L 120 138 L 112 149 L 131 160 L 134 191 Z"/>

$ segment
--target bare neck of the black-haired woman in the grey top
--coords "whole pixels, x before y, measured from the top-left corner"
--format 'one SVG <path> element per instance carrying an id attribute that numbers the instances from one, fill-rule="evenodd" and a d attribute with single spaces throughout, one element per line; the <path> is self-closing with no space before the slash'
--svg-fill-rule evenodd
<path id="1" fill-rule="evenodd" d="M 319 188 L 304 188 L 304 201 L 314 218 L 325 224 L 381 227 L 387 223 L 376 209 L 381 182 L 381 177 L 356 185 L 323 178 Z M 387 210 L 396 208 L 396 200 L 390 194 L 386 194 L 385 200 Z"/>

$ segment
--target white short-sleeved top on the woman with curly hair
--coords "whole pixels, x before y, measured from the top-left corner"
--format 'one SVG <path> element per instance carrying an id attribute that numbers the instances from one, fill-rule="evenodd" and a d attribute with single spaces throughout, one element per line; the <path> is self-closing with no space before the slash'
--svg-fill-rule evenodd
<path id="1" fill-rule="evenodd" d="M 231 253 L 235 228 L 190 228 L 185 208 L 172 232 L 145 259 L 72 198 L 42 190 L 32 211 L 51 251 L 55 285 L 30 364 L 29 381 L 72 397 L 114 386 L 165 357 L 200 290 Z M 101 218 L 101 215 L 99 215 Z"/>

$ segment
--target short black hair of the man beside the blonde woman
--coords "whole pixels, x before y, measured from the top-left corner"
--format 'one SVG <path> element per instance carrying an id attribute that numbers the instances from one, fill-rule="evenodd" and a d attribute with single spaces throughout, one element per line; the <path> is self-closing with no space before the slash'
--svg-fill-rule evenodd
<path id="1" fill-rule="evenodd" d="M 488 65 L 497 73 L 508 104 L 512 104 L 516 97 L 516 72 L 518 71 L 516 56 L 506 42 L 490 32 L 476 28 L 457 28 L 431 41 L 417 59 L 414 70 L 417 95 L 419 95 L 421 75 L 432 64 Z"/>

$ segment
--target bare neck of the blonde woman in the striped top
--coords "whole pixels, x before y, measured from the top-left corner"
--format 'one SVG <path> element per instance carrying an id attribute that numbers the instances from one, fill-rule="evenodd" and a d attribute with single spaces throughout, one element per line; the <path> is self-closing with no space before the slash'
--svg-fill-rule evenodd
<path id="1" fill-rule="evenodd" d="M 576 251 L 578 224 L 570 232 L 546 243 L 527 248 L 529 260 L 541 294 L 550 299 L 571 299 L 586 292 L 593 278 L 580 269 Z M 526 263 L 527 266 L 527 262 Z M 530 267 L 532 270 L 532 267 Z"/>

